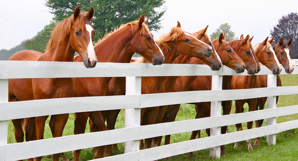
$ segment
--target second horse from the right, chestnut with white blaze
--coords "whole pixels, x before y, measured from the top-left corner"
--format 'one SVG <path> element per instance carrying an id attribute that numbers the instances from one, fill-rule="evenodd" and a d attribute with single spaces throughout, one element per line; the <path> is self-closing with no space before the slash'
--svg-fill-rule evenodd
<path id="1" fill-rule="evenodd" d="M 267 37 L 263 42 L 256 44 L 253 47 L 253 51 L 260 63 L 265 65 L 268 69 L 272 71 L 272 74 L 280 74 L 281 67 L 280 63 L 275 55 L 275 52 L 271 46 L 272 40 L 268 41 Z M 248 88 L 259 88 L 260 82 L 257 76 L 233 76 L 232 82 L 235 89 L 248 89 Z M 235 113 L 243 112 L 243 105 L 247 103 L 249 106 L 248 111 L 254 111 L 256 109 L 256 105 L 258 102 L 258 98 L 251 98 L 251 99 L 242 99 L 242 100 L 235 100 Z M 247 129 L 252 128 L 253 121 L 247 122 Z M 242 130 L 242 125 L 236 124 L 235 131 Z M 246 140 L 246 144 L 248 147 L 248 151 L 253 151 L 251 146 L 251 140 Z M 238 143 L 235 143 L 234 148 L 238 148 Z"/>

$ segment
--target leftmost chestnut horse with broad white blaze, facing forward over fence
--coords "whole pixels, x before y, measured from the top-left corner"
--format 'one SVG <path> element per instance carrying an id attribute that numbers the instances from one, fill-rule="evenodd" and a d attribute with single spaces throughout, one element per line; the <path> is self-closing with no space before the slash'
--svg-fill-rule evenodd
<path id="1" fill-rule="evenodd" d="M 80 6 L 76 7 L 74 14 L 65 19 L 62 23 L 56 25 L 51 33 L 46 52 L 44 54 L 24 50 L 12 55 L 11 61 L 57 61 L 73 62 L 74 52 L 78 52 L 84 60 L 86 68 L 93 68 L 96 65 L 97 58 L 92 45 L 94 29 L 90 24 L 94 9 L 91 7 L 89 12 L 81 12 Z M 63 98 L 74 96 L 74 80 L 72 78 L 45 78 L 45 79 L 12 79 L 9 80 L 8 88 L 9 101 L 24 101 L 33 99 Z M 68 120 L 69 114 L 54 115 L 53 124 L 55 131 L 53 137 L 62 136 L 64 126 Z M 36 139 L 43 139 L 44 126 L 48 116 L 31 118 L 27 125 L 27 141 L 33 140 L 36 122 Z M 23 131 L 21 119 L 12 120 L 15 127 L 16 141 L 23 142 Z M 31 127 L 31 128 L 30 128 Z M 60 154 L 53 155 L 53 161 L 59 160 Z M 38 160 L 41 160 L 39 157 Z"/>

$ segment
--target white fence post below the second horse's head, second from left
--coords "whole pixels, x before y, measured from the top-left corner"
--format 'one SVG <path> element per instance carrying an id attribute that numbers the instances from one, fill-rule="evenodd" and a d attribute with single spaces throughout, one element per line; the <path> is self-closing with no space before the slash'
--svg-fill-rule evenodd
<path id="1" fill-rule="evenodd" d="M 126 95 L 141 94 L 142 77 L 126 77 Z M 125 127 L 135 127 L 141 125 L 141 108 L 125 109 Z M 129 135 L 129 134 L 128 134 Z M 140 150 L 140 141 L 130 141 L 124 143 L 124 153 Z"/>

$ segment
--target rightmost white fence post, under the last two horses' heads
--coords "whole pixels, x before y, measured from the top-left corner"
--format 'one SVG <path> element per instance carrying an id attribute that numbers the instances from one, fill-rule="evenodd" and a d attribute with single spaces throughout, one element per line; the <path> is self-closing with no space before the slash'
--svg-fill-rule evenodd
<path id="1" fill-rule="evenodd" d="M 275 87 L 277 84 L 277 75 L 267 75 L 267 87 Z M 270 96 L 267 98 L 267 109 L 276 108 L 276 96 Z M 276 117 L 267 118 L 267 125 L 275 125 Z M 267 136 L 267 144 L 276 144 L 276 134 Z"/>

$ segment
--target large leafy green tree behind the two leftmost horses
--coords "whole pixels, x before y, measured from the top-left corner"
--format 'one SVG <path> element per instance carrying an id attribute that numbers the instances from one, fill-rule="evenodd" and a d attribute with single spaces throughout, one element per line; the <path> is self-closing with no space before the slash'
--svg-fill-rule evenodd
<path id="1" fill-rule="evenodd" d="M 161 7 L 164 2 L 165 0 L 46 0 L 45 5 L 55 15 L 53 19 L 59 21 L 73 14 L 78 5 L 85 11 L 93 6 L 95 13 L 91 23 L 96 32 L 93 40 L 96 41 L 106 32 L 134 21 L 144 13 L 149 17 L 149 28 L 153 31 L 160 29 L 160 18 L 166 11 L 166 7 Z"/>

